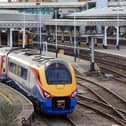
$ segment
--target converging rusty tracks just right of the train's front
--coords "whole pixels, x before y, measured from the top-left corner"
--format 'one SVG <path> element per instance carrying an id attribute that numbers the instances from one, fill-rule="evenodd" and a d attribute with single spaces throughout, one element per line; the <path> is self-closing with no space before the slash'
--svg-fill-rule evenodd
<path id="1" fill-rule="evenodd" d="M 87 88 L 90 93 L 95 95 L 95 98 L 93 97 L 92 99 L 90 96 L 84 97 L 78 94 L 78 104 L 97 111 L 100 114 L 115 120 L 116 123 L 122 126 L 126 125 L 126 100 L 124 98 L 110 89 L 84 77 L 77 76 L 77 80 L 79 85 Z"/>

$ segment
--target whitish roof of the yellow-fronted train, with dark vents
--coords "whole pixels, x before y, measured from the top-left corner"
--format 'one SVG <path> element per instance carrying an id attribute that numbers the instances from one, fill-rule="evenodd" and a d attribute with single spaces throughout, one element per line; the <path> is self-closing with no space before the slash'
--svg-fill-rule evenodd
<path id="1" fill-rule="evenodd" d="M 11 49 L 8 47 L 0 48 L 0 54 L 6 55 L 8 53 L 8 57 L 20 62 L 22 64 L 34 66 L 35 68 L 39 68 L 41 65 L 45 64 L 48 61 L 56 59 L 52 54 L 40 55 L 38 50 L 33 49 Z"/>

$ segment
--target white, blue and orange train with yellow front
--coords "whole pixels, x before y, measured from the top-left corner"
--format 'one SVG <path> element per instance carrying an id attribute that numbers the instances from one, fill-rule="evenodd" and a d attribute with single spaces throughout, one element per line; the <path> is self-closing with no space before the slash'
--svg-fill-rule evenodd
<path id="1" fill-rule="evenodd" d="M 37 50 L 0 48 L 0 79 L 13 86 L 43 113 L 67 115 L 77 104 L 73 66 Z"/>

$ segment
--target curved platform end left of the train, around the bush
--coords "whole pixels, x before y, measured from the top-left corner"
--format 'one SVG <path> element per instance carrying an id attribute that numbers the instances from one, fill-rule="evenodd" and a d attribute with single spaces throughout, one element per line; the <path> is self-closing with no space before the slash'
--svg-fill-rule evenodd
<path id="1" fill-rule="evenodd" d="M 22 120 L 28 120 L 34 112 L 32 103 L 25 96 L 0 82 L 0 102 L 4 101 L 15 107 L 18 126 L 22 126 Z"/>

